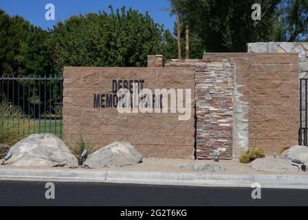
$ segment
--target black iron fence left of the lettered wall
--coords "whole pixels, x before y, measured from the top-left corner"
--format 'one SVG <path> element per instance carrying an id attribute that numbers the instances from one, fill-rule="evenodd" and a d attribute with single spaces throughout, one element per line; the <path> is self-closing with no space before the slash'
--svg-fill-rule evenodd
<path id="1" fill-rule="evenodd" d="M 62 137 L 63 77 L 2 77 L 0 102 L 17 106 L 28 120 L 24 133 L 54 133 Z M 5 126 L 5 123 L 4 125 Z"/>

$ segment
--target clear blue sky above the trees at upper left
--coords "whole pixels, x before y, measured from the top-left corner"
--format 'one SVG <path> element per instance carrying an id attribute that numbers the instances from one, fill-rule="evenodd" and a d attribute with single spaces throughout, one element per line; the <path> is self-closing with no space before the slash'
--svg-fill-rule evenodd
<path id="1" fill-rule="evenodd" d="M 56 21 L 45 20 L 45 5 L 53 3 L 56 8 Z M 52 28 L 58 21 L 64 21 L 72 15 L 87 14 L 113 8 L 133 8 L 139 12 L 148 11 L 155 23 L 164 24 L 165 29 L 173 31 L 175 17 L 170 17 L 162 8 L 168 8 L 167 0 L 1 0 L 0 8 L 6 13 L 19 15 L 43 29 Z"/>

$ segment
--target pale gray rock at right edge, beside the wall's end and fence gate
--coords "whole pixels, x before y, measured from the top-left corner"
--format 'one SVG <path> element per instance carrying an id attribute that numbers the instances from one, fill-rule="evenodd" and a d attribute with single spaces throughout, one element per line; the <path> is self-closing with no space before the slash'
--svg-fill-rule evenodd
<path id="1" fill-rule="evenodd" d="M 289 161 L 297 159 L 303 162 L 303 164 L 308 165 L 308 146 L 293 146 L 289 148 L 289 150 L 283 152 L 281 157 Z"/>

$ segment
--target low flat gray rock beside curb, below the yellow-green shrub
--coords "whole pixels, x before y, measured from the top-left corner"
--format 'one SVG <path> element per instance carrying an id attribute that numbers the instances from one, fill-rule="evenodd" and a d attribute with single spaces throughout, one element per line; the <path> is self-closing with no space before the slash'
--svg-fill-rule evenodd
<path id="1" fill-rule="evenodd" d="M 262 158 L 256 159 L 250 164 L 252 168 L 265 172 L 297 172 L 298 168 L 292 166 L 292 162 L 286 159 Z"/>

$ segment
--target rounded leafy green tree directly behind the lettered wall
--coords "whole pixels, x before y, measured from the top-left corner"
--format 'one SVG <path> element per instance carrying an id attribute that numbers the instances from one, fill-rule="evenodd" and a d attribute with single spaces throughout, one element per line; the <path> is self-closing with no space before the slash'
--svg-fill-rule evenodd
<path id="1" fill-rule="evenodd" d="M 52 31 L 54 65 L 57 71 L 65 65 L 146 66 L 147 55 L 160 50 L 162 30 L 148 13 L 131 8 L 71 17 Z"/>

